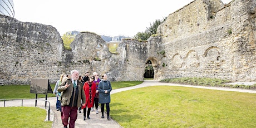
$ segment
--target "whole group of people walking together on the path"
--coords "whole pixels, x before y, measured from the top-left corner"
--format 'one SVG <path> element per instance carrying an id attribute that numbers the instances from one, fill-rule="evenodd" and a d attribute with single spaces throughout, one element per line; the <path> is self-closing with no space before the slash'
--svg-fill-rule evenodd
<path id="1" fill-rule="evenodd" d="M 61 119 L 64 127 L 75 127 L 77 119 L 77 110 L 81 113 L 83 109 L 83 120 L 91 119 L 90 111 L 93 111 L 95 105 L 96 114 L 99 113 L 98 106 L 101 104 L 101 118 L 104 117 L 104 107 L 106 104 L 107 120 L 110 120 L 110 92 L 112 90 L 107 75 L 99 78 L 99 73 L 89 72 L 82 78 L 77 70 L 71 71 L 71 76 L 67 77 L 65 73 L 61 74 L 60 80 L 56 82 L 53 93 L 56 94 L 56 109 L 61 111 Z M 87 113 L 87 115 L 86 115 Z M 70 121 L 68 122 L 68 119 Z"/>

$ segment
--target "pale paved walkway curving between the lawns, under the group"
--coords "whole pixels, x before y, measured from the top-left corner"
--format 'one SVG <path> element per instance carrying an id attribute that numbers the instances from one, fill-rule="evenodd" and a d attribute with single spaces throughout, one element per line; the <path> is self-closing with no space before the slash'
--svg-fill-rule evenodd
<path id="1" fill-rule="evenodd" d="M 237 83 L 233 83 L 237 84 Z M 243 82 L 244 85 L 250 85 L 249 82 Z M 211 90 L 221 90 L 221 91 L 236 91 L 236 92 L 247 92 L 247 93 L 256 93 L 256 90 L 243 90 L 243 89 L 237 89 L 237 88 L 224 88 L 224 87 L 204 87 L 204 86 L 191 86 L 191 85 L 180 85 L 175 83 L 161 83 L 159 81 L 153 81 L 153 80 L 145 80 L 140 85 L 132 86 L 132 87 L 125 87 L 125 88 L 119 88 L 116 90 L 112 90 L 111 94 L 122 92 L 126 90 L 132 90 L 135 88 L 140 87 L 147 87 L 147 86 L 160 86 L 160 85 L 166 85 L 166 86 L 183 86 L 183 87 L 195 87 L 195 88 L 205 88 L 205 89 L 211 89 Z M 41 99 L 45 100 L 45 98 Z M 37 106 L 45 108 L 45 101 L 37 101 Z M 51 114 L 50 114 L 50 120 L 53 121 L 52 127 L 63 127 L 62 121 L 61 121 L 61 112 L 56 111 L 56 97 L 48 97 L 48 101 L 50 101 L 51 104 Z M 48 105 L 48 104 L 47 104 Z M 111 105 L 111 104 L 110 104 Z M 3 107 L 4 103 L 3 101 L 0 102 L 0 107 Z M 21 100 L 14 100 L 14 101 L 6 101 L 6 106 L 21 106 Z M 23 106 L 35 106 L 35 100 L 23 100 Z M 110 107 L 111 110 L 111 107 Z M 47 111 L 48 112 L 48 111 Z M 111 116 L 111 111 L 110 111 Z M 79 127 L 97 127 L 97 128 L 119 128 L 120 126 L 116 121 L 114 120 L 107 120 L 106 114 L 105 119 L 101 119 L 101 112 L 100 112 L 100 106 L 99 106 L 99 114 L 95 114 L 94 112 L 91 112 L 90 114 L 91 119 L 90 120 L 83 120 L 83 113 L 78 113 L 78 117 L 76 120 L 75 126 L 77 128 Z M 48 120 L 48 115 L 46 116 L 46 120 Z"/>

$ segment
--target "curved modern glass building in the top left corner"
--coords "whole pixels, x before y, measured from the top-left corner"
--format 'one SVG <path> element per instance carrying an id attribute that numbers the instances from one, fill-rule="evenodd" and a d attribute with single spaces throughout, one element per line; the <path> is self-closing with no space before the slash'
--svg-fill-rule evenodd
<path id="1" fill-rule="evenodd" d="M 0 0 L 0 14 L 14 18 L 14 4 L 12 0 Z"/>

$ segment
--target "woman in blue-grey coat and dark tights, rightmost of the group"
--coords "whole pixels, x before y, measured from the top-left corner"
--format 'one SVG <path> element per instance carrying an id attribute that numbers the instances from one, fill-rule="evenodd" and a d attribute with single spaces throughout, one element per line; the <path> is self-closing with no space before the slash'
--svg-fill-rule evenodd
<path id="1" fill-rule="evenodd" d="M 104 105 L 106 104 L 107 109 L 107 120 L 110 120 L 109 112 L 110 112 L 110 92 L 112 90 L 110 81 L 107 80 L 107 75 L 102 75 L 103 80 L 99 83 L 99 103 L 101 104 L 101 118 L 104 118 Z"/>

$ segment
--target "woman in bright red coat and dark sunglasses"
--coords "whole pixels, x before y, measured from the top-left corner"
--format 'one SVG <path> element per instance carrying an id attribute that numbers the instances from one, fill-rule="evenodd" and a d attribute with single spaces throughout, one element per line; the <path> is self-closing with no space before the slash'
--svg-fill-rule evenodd
<path id="1" fill-rule="evenodd" d="M 90 80 L 86 81 L 85 84 L 83 85 L 83 90 L 85 91 L 85 97 L 86 97 L 86 103 L 82 106 L 83 109 L 83 120 L 86 119 L 86 107 L 88 108 L 87 110 L 87 119 L 90 118 L 90 111 L 91 107 L 93 106 L 93 99 L 95 97 L 96 93 L 96 84 L 93 82 L 94 76 L 90 76 Z"/>

